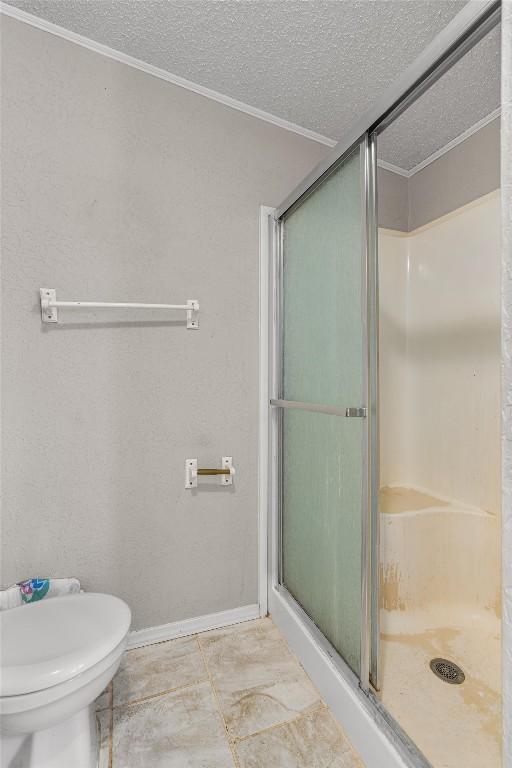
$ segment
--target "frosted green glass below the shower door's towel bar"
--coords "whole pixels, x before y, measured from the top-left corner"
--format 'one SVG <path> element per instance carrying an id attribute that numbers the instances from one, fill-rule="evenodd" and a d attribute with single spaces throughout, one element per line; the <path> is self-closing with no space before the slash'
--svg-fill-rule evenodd
<path id="1" fill-rule="evenodd" d="M 359 674 L 363 419 L 283 410 L 282 581 Z"/>

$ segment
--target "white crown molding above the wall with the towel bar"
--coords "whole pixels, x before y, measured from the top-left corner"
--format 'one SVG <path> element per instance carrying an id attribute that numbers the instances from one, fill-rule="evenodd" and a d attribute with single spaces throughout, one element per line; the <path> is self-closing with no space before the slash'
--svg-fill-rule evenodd
<path id="1" fill-rule="evenodd" d="M 31 27 L 41 29 L 43 32 L 48 32 L 49 34 L 55 35 L 56 37 L 61 37 L 70 43 L 75 43 L 75 45 L 80 45 L 82 48 L 87 48 L 89 51 L 99 53 L 100 55 L 106 56 L 107 58 L 113 59 L 114 61 L 118 61 L 121 64 L 126 64 L 128 67 L 138 69 L 141 72 L 145 72 L 147 75 L 151 75 L 152 77 L 158 77 L 160 80 L 165 80 L 172 85 L 177 85 L 179 88 L 185 88 L 188 91 L 197 93 L 199 96 L 204 96 L 205 98 L 211 99 L 212 101 L 217 101 L 226 107 L 230 107 L 231 109 L 244 112 L 246 115 L 255 117 L 258 120 L 263 120 L 264 122 L 275 125 L 278 128 L 283 128 L 285 131 L 296 133 L 299 136 L 303 136 L 306 139 L 311 139 L 312 141 L 316 141 L 319 144 L 324 144 L 327 147 L 334 147 L 337 143 L 334 141 L 334 139 L 330 139 L 328 136 L 322 136 L 320 133 L 310 131 L 308 128 L 304 128 L 301 125 L 292 123 L 289 120 L 284 120 L 281 117 L 277 117 L 277 115 L 272 115 L 270 112 L 265 112 L 264 110 L 258 109 L 257 107 L 252 107 L 250 104 L 245 104 L 243 101 L 232 99 L 230 96 L 225 96 L 223 93 L 213 91 L 211 88 L 206 88 L 205 86 L 194 83 L 191 80 L 186 80 L 184 77 L 179 77 L 179 75 L 173 75 L 171 72 L 167 72 L 165 69 L 160 69 L 159 67 L 155 67 L 152 64 L 147 64 L 145 61 L 136 59 L 133 56 L 122 53 L 121 51 L 116 51 L 114 48 L 109 48 L 107 45 L 97 43 L 95 40 L 91 40 L 88 37 L 79 35 L 69 29 L 65 29 L 58 24 L 52 24 L 50 21 L 46 21 L 39 16 L 34 16 L 31 13 L 22 11 L 19 8 L 15 8 L 8 3 L 0 3 L 0 12 L 5 16 L 16 19 L 16 21 L 21 21 L 25 24 L 29 24 Z"/>

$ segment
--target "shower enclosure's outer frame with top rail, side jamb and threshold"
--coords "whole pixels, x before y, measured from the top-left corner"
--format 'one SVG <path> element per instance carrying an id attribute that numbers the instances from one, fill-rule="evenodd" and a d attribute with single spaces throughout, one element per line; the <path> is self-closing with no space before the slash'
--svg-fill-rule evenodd
<path id="1" fill-rule="evenodd" d="M 352 126 L 346 137 L 320 162 L 317 167 L 288 195 L 276 209 L 262 210 L 261 314 L 268 317 L 268 329 L 261 337 L 261 361 L 264 377 L 261 379 L 260 439 L 260 604 L 268 605 L 290 645 L 303 662 L 324 699 L 343 722 L 349 738 L 368 765 L 396 765 L 387 762 L 383 753 L 360 741 L 363 720 L 370 721 L 376 732 L 387 737 L 390 760 L 400 756 L 402 765 L 428 766 L 400 725 L 385 710 L 375 696 L 379 685 L 378 656 L 378 281 L 377 281 L 377 135 L 398 115 L 405 111 L 422 93 L 455 64 L 478 40 L 499 22 L 500 0 L 469 2 L 462 11 L 439 33 L 398 81 L 386 91 L 377 104 Z M 282 408 L 273 407 L 271 400 L 280 397 L 281 371 L 281 312 L 280 292 L 282 280 L 282 222 L 285 213 L 300 204 L 330 175 L 343 159 L 363 144 L 362 195 L 365 211 L 362 237 L 364 284 L 366 286 L 365 318 L 367 339 L 367 425 L 366 456 L 363 456 L 366 477 L 366 508 L 362 509 L 361 559 L 361 664 L 358 678 L 343 658 L 314 625 L 300 605 L 280 583 L 280 509 L 281 509 L 281 457 L 280 429 Z M 266 291 L 266 295 L 265 295 Z M 364 296 L 363 296 L 364 299 Z M 363 319 L 362 319 L 363 320 Z M 267 370 L 268 366 L 268 370 Z M 351 404 L 347 404 L 351 405 Z M 364 498 L 365 494 L 363 494 Z M 265 568 L 266 564 L 266 568 Z M 354 695 L 356 698 L 354 698 Z M 343 701 L 341 698 L 345 697 Z M 341 701 L 341 703 L 340 703 Z M 359 719 L 348 711 L 347 704 L 359 705 Z M 361 720 L 363 718 L 363 720 Z M 350 722 L 349 722 L 350 720 Z M 383 733 L 382 733 L 383 732 Z M 378 741 L 378 739 L 377 739 Z M 377 741 L 373 745 L 377 744 Z M 373 749 L 373 752 L 372 752 Z M 394 755 L 394 758 L 392 757 Z M 375 762 L 374 762 L 375 760 Z"/>

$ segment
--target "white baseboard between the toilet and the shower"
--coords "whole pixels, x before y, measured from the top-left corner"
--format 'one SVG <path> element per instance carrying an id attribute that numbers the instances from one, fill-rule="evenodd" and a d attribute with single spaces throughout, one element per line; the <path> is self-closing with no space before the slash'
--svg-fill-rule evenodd
<path id="1" fill-rule="evenodd" d="M 172 621 L 170 624 L 161 624 L 159 627 L 148 627 L 130 632 L 128 638 L 128 650 L 142 648 L 144 645 L 162 643 L 165 640 L 175 640 L 177 637 L 195 635 L 198 632 L 206 632 L 208 629 L 220 629 L 230 624 L 239 624 L 242 621 L 250 621 L 260 617 L 259 605 L 242 605 L 240 608 L 231 608 L 229 611 L 209 613 L 206 616 L 197 616 L 183 621 Z"/>

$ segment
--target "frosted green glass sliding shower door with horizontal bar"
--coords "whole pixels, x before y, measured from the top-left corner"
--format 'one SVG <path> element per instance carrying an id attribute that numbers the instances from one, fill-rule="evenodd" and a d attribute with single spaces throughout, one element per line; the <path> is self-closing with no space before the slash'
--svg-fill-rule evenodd
<path id="1" fill-rule="evenodd" d="M 282 221 L 280 584 L 361 673 L 364 144 Z"/>

